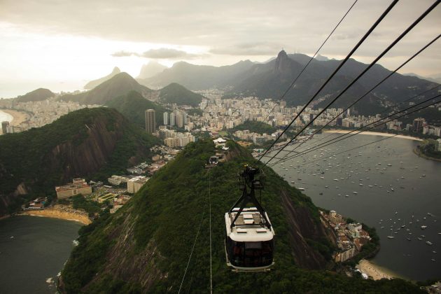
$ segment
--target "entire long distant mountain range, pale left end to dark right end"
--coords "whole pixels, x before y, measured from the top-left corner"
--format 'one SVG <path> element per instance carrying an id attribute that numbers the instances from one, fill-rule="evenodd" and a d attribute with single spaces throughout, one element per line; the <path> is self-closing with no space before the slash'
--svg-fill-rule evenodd
<path id="1" fill-rule="evenodd" d="M 262 99 L 279 99 L 298 73 L 302 71 L 304 65 L 309 62 L 309 59 L 310 57 L 307 55 L 288 55 L 282 50 L 276 58 L 270 59 L 264 64 L 256 64 L 246 60 L 230 66 L 216 67 L 177 62 L 172 68 L 165 69 L 162 73 L 151 78 L 141 80 L 141 83 L 161 87 L 176 82 L 190 90 L 221 87 L 226 90 L 225 97 L 255 96 Z M 340 62 L 342 61 L 325 57 L 313 59 L 294 87 L 286 94 L 287 104 L 297 106 L 306 103 Z M 366 67 L 367 64 L 349 59 L 318 94 L 314 106 L 323 107 L 328 104 L 332 97 L 335 97 L 346 85 L 349 85 L 353 78 Z M 332 106 L 339 108 L 349 105 L 389 73 L 391 73 L 390 70 L 375 64 Z M 360 114 L 379 113 L 384 105 L 402 102 L 435 85 L 429 80 L 395 73 L 358 102 L 354 106 L 354 110 Z"/>

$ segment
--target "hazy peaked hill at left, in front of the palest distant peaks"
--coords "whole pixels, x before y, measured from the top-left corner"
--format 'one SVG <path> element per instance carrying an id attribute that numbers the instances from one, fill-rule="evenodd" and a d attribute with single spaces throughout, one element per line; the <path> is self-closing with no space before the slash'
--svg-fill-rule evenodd
<path id="1" fill-rule="evenodd" d="M 92 90 L 80 94 L 66 94 L 61 97 L 64 101 L 73 101 L 80 104 L 101 104 L 111 101 L 113 98 L 127 94 L 134 90 L 146 96 L 154 92 L 148 87 L 139 85 L 128 73 L 118 73 L 110 80 L 97 85 Z"/>

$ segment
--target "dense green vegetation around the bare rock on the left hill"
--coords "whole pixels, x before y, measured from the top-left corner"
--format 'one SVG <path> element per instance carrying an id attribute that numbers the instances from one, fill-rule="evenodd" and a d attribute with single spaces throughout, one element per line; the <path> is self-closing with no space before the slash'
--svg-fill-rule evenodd
<path id="1" fill-rule="evenodd" d="M 55 155 L 56 150 L 71 146 L 72 154 L 80 148 L 87 152 L 89 147 L 83 146 L 85 141 L 97 139 L 92 139 L 94 134 L 89 133 L 94 124 L 104 124 L 109 134 L 118 133 L 120 137 L 100 167 L 75 174 L 72 161 L 80 160 L 83 166 L 87 162 L 65 154 Z M 3 135 L 0 137 L 0 197 L 13 193 L 20 183 L 31 196 L 55 195 L 54 186 L 67 183 L 72 177 L 106 179 L 111 174 L 125 172 L 129 160 L 148 158 L 150 146 L 156 143 L 157 139 L 130 125 L 120 113 L 104 108 L 73 111 L 49 125 Z M 95 148 L 100 148 L 97 144 Z"/>

